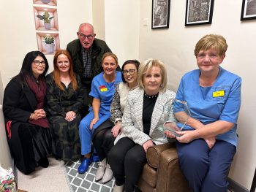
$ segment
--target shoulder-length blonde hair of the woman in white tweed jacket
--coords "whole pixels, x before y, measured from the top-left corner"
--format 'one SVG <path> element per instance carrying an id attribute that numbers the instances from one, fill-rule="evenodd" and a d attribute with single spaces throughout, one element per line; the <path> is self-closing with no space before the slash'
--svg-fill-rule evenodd
<path id="1" fill-rule="evenodd" d="M 165 92 L 167 86 L 167 72 L 165 64 L 158 59 L 148 58 L 146 61 L 140 64 L 138 71 L 138 86 L 144 89 L 143 77 L 148 71 L 152 69 L 153 66 L 158 66 L 161 69 L 162 86 L 160 86 L 160 91 Z"/>

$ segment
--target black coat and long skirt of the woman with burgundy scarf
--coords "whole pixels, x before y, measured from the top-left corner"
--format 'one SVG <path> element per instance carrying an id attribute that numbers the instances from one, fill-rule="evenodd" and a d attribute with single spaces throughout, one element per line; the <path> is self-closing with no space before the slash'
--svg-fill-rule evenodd
<path id="1" fill-rule="evenodd" d="M 4 90 L 4 121 L 6 125 L 11 121 L 7 141 L 15 165 L 24 174 L 33 172 L 39 159 L 48 155 L 52 147 L 50 129 L 28 122 L 36 107 L 37 99 L 28 85 L 19 76 L 13 77 Z"/>

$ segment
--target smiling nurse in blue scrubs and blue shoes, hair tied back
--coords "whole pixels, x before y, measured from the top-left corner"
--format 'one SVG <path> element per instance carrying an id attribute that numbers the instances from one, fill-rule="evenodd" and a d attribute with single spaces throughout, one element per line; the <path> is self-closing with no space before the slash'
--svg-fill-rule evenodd
<path id="1" fill-rule="evenodd" d="M 121 80 L 121 72 L 117 72 L 118 59 L 113 53 L 105 53 L 102 56 L 103 72 L 94 77 L 91 82 L 91 92 L 94 99 L 92 107 L 86 117 L 81 120 L 79 125 L 79 136 L 81 142 L 81 153 L 83 160 L 78 167 L 78 172 L 83 174 L 89 168 L 92 161 L 98 161 L 96 155 L 91 156 L 91 137 L 100 124 L 110 118 L 110 104 L 116 85 Z"/>

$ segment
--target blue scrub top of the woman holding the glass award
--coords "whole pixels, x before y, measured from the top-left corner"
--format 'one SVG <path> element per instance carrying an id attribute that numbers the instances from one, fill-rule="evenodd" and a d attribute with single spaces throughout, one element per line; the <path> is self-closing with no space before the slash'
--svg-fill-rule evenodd
<path id="1" fill-rule="evenodd" d="M 199 85 L 200 70 L 184 74 L 182 77 L 176 99 L 187 101 L 191 117 L 200 120 L 204 125 L 217 120 L 235 123 L 235 126 L 224 134 L 219 134 L 217 139 L 237 145 L 236 135 L 238 112 L 241 104 L 241 77 L 219 67 L 217 80 L 210 88 Z M 183 111 L 180 104 L 174 102 L 174 112 Z M 178 127 L 182 124 L 178 123 Z M 194 129 L 184 126 L 183 130 Z"/>

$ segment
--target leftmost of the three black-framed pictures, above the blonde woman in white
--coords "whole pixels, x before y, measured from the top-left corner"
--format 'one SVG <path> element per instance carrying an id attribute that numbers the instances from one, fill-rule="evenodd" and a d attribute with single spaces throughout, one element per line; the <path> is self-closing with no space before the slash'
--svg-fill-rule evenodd
<path id="1" fill-rule="evenodd" d="M 170 0 L 152 0 L 151 28 L 169 28 Z"/>

